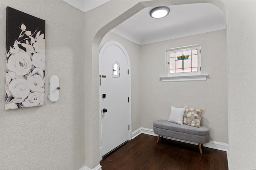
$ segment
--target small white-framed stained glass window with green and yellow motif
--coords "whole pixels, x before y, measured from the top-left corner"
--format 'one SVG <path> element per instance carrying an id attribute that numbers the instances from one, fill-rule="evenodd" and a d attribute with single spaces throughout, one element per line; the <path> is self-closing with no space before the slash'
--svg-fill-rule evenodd
<path id="1" fill-rule="evenodd" d="M 168 75 L 200 71 L 200 45 L 167 50 Z M 190 73 L 192 74 L 192 73 Z M 195 73 L 198 74 L 198 73 Z"/>

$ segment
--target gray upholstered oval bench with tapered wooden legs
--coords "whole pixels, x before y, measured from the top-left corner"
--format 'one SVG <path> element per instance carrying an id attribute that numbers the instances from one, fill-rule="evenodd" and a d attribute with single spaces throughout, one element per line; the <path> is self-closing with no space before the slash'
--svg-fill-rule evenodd
<path id="1" fill-rule="evenodd" d="M 209 128 L 205 126 L 192 127 L 190 125 L 179 125 L 176 123 L 168 122 L 166 120 L 158 120 L 153 123 L 154 133 L 158 134 L 157 142 L 160 136 L 167 136 L 171 138 L 186 140 L 198 143 L 200 153 L 204 143 L 210 142 Z"/>

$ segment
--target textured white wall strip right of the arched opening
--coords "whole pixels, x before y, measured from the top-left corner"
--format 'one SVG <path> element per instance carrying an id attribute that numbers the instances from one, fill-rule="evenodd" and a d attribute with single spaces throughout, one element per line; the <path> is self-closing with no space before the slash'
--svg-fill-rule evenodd
<path id="1" fill-rule="evenodd" d="M 228 9 L 228 139 L 230 170 L 256 169 L 256 1 Z"/>

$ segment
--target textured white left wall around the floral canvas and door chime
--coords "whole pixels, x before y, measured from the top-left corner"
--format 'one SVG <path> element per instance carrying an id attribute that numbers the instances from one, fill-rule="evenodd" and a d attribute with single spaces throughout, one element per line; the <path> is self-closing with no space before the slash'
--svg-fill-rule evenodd
<path id="1" fill-rule="evenodd" d="M 46 20 L 45 105 L 4 110 L 6 7 Z M 84 13 L 60 0 L 0 0 L 0 169 L 84 166 Z M 60 99 L 47 100 L 60 78 Z"/>

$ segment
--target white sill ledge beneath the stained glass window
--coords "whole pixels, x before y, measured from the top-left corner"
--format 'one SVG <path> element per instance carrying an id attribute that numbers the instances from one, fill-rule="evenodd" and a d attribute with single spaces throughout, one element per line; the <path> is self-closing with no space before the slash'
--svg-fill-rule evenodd
<path id="1" fill-rule="evenodd" d="M 174 77 L 159 77 L 162 82 L 172 82 L 172 81 L 206 81 L 206 76 L 204 75 L 187 75 L 187 76 L 174 76 Z"/>

